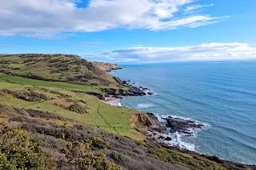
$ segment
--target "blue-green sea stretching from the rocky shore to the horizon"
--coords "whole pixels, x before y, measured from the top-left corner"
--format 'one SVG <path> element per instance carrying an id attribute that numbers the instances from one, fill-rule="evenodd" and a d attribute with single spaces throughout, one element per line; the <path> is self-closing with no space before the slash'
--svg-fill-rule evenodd
<path id="1" fill-rule="evenodd" d="M 256 164 L 256 61 L 121 66 L 111 74 L 154 92 L 121 105 L 205 123 L 193 135 L 173 134 L 172 145 Z"/>

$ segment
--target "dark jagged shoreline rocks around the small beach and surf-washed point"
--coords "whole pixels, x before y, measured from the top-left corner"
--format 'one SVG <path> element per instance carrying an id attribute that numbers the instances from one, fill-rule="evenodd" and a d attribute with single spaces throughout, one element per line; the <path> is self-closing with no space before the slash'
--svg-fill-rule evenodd
<path id="1" fill-rule="evenodd" d="M 122 84 L 129 87 L 129 90 L 125 91 L 123 89 L 105 89 L 104 97 L 100 99 L 107 103 L 108 105 L 122 106 L 120 101 L 127 96 L 145 96 L 153 95 L 153 92 L 149 88 L 136 87 L 135 83 L 130 84 L 131 81 L 122 81 Z M 185 136 L 194 135 L 196 129 L 201 129 L 206 125 L 200 122 L 195 122 L 193 120 L 186 120 L 182 118 L 167 116 L 159 117 L 154 113 L 147 113 L 150 119 L 150 124 L 144 124 L 143 122 L 143 133 L 149 140 L 153 140 L 159 144 L 167 144 L 170 146 L 175 146 L 172 143 L 173 134 L 178 133 Z M 175 147 L 179 149 L 188 149 L 183 147 L 183 145 L 176 145 Z"/>

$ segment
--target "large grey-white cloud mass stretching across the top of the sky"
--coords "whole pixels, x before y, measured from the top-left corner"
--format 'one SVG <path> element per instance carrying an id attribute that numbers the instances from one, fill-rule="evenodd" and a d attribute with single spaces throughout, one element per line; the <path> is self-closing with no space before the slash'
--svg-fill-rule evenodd
<path id="1" fill-rule="evenodd" d="M 56 32 L 105 31 L 114 28 L 172 30 L 216 23 L 208 14 L 186 14 L 206 8 L 196 0 L 9 0 L 0 6 L 0 35 L 51 38 Z M 186 8 L 183 10 L 183 8 Z"/>

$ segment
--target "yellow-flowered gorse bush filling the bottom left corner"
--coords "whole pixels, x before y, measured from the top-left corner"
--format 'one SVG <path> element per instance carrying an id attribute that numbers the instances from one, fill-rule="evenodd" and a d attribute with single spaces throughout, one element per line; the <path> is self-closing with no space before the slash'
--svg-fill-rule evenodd
<path id="1" fill-rule="evenodd" d="M 0 124 L 0 169 L 55 169 L 55 161 L 20 127 Z"/>

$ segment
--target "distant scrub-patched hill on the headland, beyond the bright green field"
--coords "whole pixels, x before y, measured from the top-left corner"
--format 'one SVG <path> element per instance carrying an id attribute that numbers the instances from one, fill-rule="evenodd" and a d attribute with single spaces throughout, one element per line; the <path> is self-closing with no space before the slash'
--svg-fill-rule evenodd
<path id="1" fill-rule="evenodd" d="M 90 62 L 76 55 L 63 54 L 20 54 L 0 56 L 0 71 L 17 76 L 73 82 L 85 85 L 120 87 L 106 71 L 118 65 Z"/>

